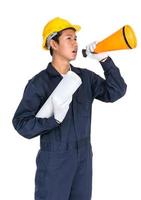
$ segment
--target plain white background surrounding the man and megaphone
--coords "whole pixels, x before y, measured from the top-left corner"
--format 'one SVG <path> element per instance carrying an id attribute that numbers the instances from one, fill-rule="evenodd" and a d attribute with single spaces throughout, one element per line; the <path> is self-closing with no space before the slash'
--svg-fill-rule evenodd
<path id="1" fill-rule="evenodd" d="M 138 47 L 109 52 L 128 90 L 115 103 L 93 104 L 93 197 L 95 200 L 141 199 L 141 11 L 139 0 L 47 1 L 0 3 L 0 199 L 33 200 L 39 137 L 21 137 L 12 117 L 27 81 L 45 69 L 51 57 L 42 50 L 42 29 L 56 16 L 81 25 L 79 52 L 72 64 L 103 76 L 99 63 L 81 49 L 125 24 L 133 27 Z M 85 188 L 84 188 L 85 189 Z"/>

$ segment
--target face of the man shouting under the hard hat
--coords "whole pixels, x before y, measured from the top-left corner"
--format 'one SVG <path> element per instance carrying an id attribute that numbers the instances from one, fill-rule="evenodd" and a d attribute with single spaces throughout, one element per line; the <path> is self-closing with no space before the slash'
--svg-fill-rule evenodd
<path id="1" fill-rule="evenodd" d="M 75 60 L 78 50 L 77 36 L 73 29 L 66 29 L 55 44 L 55 53 L 66 61 Z"/>

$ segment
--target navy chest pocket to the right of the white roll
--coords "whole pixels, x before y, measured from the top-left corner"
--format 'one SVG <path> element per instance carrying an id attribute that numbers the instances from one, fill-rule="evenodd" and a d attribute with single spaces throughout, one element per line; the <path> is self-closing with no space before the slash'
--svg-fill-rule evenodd
<path id="1" fill-rule="evenodd" d="M 92 101 L 83 87 L 80 87 L 76 93 L 76 102 L 78 115 L 89 117 L 91 115 Z"/>

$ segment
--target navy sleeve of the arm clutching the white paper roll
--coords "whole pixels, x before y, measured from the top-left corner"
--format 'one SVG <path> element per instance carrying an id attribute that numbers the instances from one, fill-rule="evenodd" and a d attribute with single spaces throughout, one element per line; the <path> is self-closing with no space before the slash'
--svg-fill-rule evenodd
<path id="1" fill-rule="evenodd" d="M 25 138 L 31 139 L 59 126 L 54 116 L 49 118 L 35 117 L 41 106 L 41 101 L 37 89 L 29 82 L 12 120 L 14 128 Z"/>

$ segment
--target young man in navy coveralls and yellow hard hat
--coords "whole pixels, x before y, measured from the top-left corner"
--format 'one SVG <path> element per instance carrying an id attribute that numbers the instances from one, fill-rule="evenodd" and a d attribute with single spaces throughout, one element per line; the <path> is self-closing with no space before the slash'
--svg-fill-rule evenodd
<path id="1" fill-rule="evenodd" d="M 58 17 L 46 24 L 43 48 L 50 50 L 52 62 L 29 80 L 13 117 L 19 134 L 29 139 L 40 135 L 35 200 L 91 199 L 92 103 L 94 99 L 114 102 L 126 92 L 119 69 L 106 54 L 94 55 L 104 70 L 105 79 L 70 64 L 77 55 L 76 32 L 79 30 L 80 26 Z M 87 46 L 87 55 L 92 55 L 92 47 L 94 43 Z M 52 116 L 37 117 L 40 108 L 70 70 L 79 76 L 81 85 L 65 104 L 57 105 L 52 101 Z"/>

